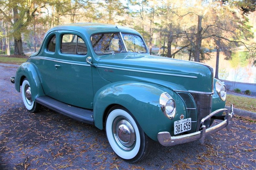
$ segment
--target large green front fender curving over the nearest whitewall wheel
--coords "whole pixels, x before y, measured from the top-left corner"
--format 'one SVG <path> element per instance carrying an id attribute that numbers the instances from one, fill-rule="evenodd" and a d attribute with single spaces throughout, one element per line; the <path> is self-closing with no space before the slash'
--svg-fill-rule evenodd
<path id="1" fill-rule="evenodd" d="M 160 109 L 159 97 L 168 92 L 176 102 L 176 114 L 173 120 L 164 116 Z M 186 117 L 186 111 L 180 97 L 165 87 L 144 82 L 115 82 L 108 84 L 95 94 L 94 124 L 103 129 L 103 116 L 110 105 L 121 105 L 128 109 L 143 131 L 151 139 L 157 141 L 157 133 L 173 132 L 173 122 L 180 120 L 180 115 Z"/>

